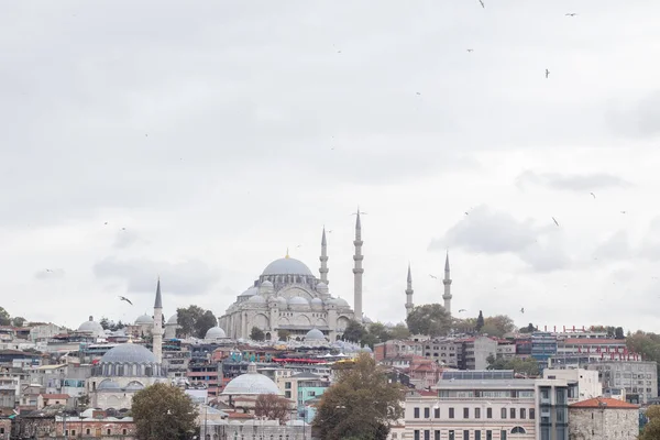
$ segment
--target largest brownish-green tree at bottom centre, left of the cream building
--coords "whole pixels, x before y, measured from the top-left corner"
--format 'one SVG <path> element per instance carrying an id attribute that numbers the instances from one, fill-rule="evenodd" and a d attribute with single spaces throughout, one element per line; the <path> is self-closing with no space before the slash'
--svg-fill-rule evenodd
<path id="1" fill-rule="evenodd" d="M 336 372 L 336 383 L 323 393 L 314 425 L 326 440 L 384 440 L 391 424 L 403 417 L 405 391 L 392 384 L 369 354 Z"/>

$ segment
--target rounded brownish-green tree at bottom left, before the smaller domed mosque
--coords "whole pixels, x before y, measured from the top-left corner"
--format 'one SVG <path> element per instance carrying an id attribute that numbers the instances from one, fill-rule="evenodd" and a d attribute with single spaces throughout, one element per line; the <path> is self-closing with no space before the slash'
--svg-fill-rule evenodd
<path id="1" fill-rule="evenodd" d="M 196 431 L 197 408 L 176 386 L 155 384 L 135 393 L 131 415 L 139 440 L 185 440 Z"/>

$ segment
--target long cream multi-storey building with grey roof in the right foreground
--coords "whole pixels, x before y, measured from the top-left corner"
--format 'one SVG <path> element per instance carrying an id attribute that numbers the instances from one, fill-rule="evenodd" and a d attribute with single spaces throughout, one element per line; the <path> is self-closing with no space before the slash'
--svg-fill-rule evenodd
<path id="1" fill-rule="evenodd" d="M 568 440 L 562 380 L 516 380 L 513 371 L 446 372 L 437 394 L 410 392 L 405 439 Z"/>

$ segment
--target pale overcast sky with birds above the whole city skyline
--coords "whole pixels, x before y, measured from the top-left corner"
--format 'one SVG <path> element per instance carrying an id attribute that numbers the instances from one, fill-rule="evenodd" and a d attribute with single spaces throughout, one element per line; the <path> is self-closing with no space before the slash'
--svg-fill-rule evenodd
<path id="1" fill-rule="evenodd" d="M 360 206 L 374 320 L 449 249 L 465 316 L 660 331 L 660 2 L 484 1 L 0 3 L 1 305 L 220 316 L 323 224 L 352 302 Z"/>

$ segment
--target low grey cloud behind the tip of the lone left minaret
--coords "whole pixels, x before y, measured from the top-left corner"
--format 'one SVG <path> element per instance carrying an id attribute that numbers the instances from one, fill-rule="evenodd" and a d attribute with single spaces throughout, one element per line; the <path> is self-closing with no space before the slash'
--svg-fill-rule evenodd
<path id="1" fill-rule="evenodd" d="M 158 275 L 164 293 L 186 296 L 206 294 L 219 280 L 217 271 L 195 258 L 169 263 L 107 257 L 94 265 L 94 274 L 98 278 L 121 279 L 127 283 L 127 292 L 138 294 L 155 292 Z"/>

